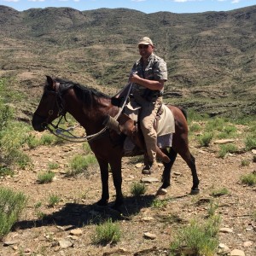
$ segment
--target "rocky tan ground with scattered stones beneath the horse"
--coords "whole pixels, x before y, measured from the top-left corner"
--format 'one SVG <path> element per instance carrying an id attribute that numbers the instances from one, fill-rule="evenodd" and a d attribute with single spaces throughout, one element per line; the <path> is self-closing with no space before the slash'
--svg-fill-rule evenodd
<path id="1" fill-rule="evenodd" d="M 32 166 L 26 170 L 15 170 L 14 177 L 0 179 L 0 186 L 23 191 L 29 196 L 19 223 L 0 243 L 0 255 L 168 255 L 170 241 L 178 229 L 188 225 L 192 219 L 207 218 L 213 201 L 218 205 L 217 212 L 221 216 L 218 253 L 254 256 L 256 188 L 240 181 L 241 175 L 256 170 L 253 152 L 229 154 L 221 159 L 217 156 L 216 147 L 212 143 L 209 148 L 198 148 L 191 143 L 201 179 L 199 195 L 189 195 L 192 185 L 189 167 L 177 157 L 172 169 L 172 187 L 166 195 L 155 196 L 161 176 L 161 172 L 157 172 L 150 176 L 155 181 L 146 183 L 145 195 L 134 197 L 131 184 L 145 176 L 141 174 L 137 159 L 125 158 L 125 206 L 122 214 L 108 207 L 96 207 L 101 196 L 97 166 L 90 168 L 86 176 L 65 176 L 68 161 L 74 154 L 82 153 L 81 144 L 24 148 L 32 159 Z M 251 161 L 249 166 L 241 166 L 241 160 Z M 39 184 L 38 173 L 47 170 L 50 162 L 59 164 L 54 170 L 55 180 Z M 109 182 L 111 205 L 114 201 L 111 177 Z M 228 189 L 229 195 L 212 196 L 213 190 L 223 188 Z M 48 207 L 49 195 L 58 195 L 60 203 Z M 152 207 L 156 198 L 167 203 Z M 121 239 L 115 245 L 96 246 L 91 241 L 96 233 L 96 224 L 108 218 L 119 224 Z"/>

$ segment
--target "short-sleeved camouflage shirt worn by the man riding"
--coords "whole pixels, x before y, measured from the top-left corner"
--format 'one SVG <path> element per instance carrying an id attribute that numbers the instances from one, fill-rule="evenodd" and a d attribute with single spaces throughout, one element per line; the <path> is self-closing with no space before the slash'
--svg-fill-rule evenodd
<path id="1" fill-rule="evenodd" d="M 166 61 L 161 59 L 159 56 L 152 53 L 148 57 L 148 61 L 143 63 L 143 58 L 136 61 L 131 69 L 131 73 L 137 73 L 137 75 L 143 79 L 148 80 L 167 80 L 167 67 Z M 143 96 L 146 88 L 140 84 L 133 84 L 131 93 L 133 95 L 139 94 Z M 162 92 L 163 90 L 161 90 Z"/>

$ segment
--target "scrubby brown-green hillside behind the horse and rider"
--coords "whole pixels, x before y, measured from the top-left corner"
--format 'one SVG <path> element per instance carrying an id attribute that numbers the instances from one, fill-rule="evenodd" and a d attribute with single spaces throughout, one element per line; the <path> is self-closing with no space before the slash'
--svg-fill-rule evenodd
<path id="1" fill-rule="evenodd" d="M 166 102 L 212 116 L 255 114 L 255 25 L 256 5 L 178 15 L 0 6 L 0 75 L 33 95 L 45 74 L 114 94 L 138 58 L 138 38 L 148 35 L 168 65 Z"/>

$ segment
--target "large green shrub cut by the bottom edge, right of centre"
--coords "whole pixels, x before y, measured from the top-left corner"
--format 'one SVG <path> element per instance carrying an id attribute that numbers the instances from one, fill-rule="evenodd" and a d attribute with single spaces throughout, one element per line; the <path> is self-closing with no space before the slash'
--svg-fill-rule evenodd
<path id="1" fill-rule="evenodd" d="M 219 217 L 212 216 L 206 223 L 193 220 L 188 227 L 179 230 L 172 241 L 171 255 L 183 255 L 183 248 L 191 255 L 213 256 L 218 248 Z"/>

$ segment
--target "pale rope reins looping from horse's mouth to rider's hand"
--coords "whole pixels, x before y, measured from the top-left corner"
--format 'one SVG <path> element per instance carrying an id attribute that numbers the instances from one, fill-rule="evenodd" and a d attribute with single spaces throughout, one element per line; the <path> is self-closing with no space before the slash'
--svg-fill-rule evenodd
<path id="1" fill-rule="evenodd" d="M 131 87 L 132 87 L 132 83 L 130 83 L 129 85 L 127 84 L 127 86 L 129 86 L 129 89 L 128 89 L 128 92 L 125 96 L 125 100 L 123 101 L 122 103 L 122 106 L 121 108 L 119 108 L 119 112 L 114 116 L 113 119 L 117 120 L 119 118 L 119 115 L 122 113 L 123 109 L 125 108 L 125 103 L 128 99 L 128 97 L 130 96 L 130 92 L 131 92 Z M 58 94 L 59 98 L 61 99 L 62 101 L 62 98 L 61 98 L 61 94 L 59 94 L 59 92 L 56 92 L 56 94 Z M 62 109 L 63 110 L 63 109 Z M 61 111 L 60 111 L 61 112 Z M 73 133 L 71 133 L 70 131 L 73 131 L 77 126 L 79 125 L 74 125 L 74 126 L 71 126 L 67 129 L 63 129 L 61 127 L 58 127 L 61 123 L 61 119 L 64 117 L 64 119 L 67 121 L 66 119 L 66 112 L 65 113 L 61 113 L 61 116 L 60 116 L 60 119 L 58 120 L 58 123 L 57 125 L 54 125 L 52 124 L 52 122 L 50 122 L 46 128 L 47 130 L 52 133 L 53 135 L 55 135 L 55 137 L 60 137 L 61 139 L 63 140 L 66 140 L 68 142 L 72 142 L 72 143 L 84 143 L 84 142 L 89 142 L 89 141 L 92 141 L 94 139 L 98 139 L 100 138 L 100 136 L 102 136 L 104 134 L 105 131 L 108 130 L 108 127 L 105 126 L 101 131 L 98 131 L 94 134 L 91 134 L 89 136 L 83 136 L 83 137 L 77 137 L 75 135 L 73 135 Z M 49 125 L 51 125 L 54 129 L 51 129 L 49 127 Z M 67 134 L 65 134 L 67 133 Z"/>

